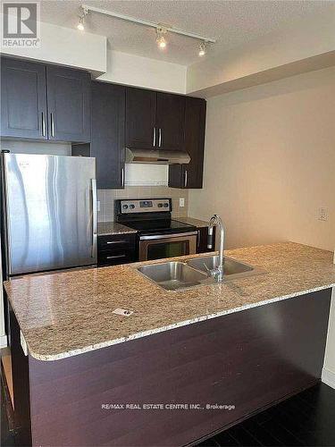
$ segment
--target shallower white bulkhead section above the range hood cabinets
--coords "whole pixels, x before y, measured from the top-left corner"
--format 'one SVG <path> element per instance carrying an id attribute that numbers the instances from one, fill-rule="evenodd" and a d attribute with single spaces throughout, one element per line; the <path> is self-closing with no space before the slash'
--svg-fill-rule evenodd
<path id="1" fill-rule="evenodd" d="M 186 66 L 120 51 L 107 51 L 106 72 L 97 79 L 145 89 L 186 93 Z"/>

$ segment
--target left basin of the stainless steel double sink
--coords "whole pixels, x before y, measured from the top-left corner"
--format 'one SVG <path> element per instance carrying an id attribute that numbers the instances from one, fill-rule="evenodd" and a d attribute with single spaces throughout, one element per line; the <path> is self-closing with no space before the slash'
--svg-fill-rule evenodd
<path id="1" fill-rule="evenodd" d="M 207 274 L 195 270 L 182 262 L 165 262 L 138 267 L 138 272 L 163 287 L 167 291 L 176 291 L 200 284 Z"/>

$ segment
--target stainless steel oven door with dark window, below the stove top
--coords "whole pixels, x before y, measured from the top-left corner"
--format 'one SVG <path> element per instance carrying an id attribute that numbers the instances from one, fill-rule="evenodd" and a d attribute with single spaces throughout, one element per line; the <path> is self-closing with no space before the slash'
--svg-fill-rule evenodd
<path id="1" fill-rule="evenodd" d="M 155 234 L 139 237 L 139 260 L 194 255 L 197 252 L 197 232 Z"/>

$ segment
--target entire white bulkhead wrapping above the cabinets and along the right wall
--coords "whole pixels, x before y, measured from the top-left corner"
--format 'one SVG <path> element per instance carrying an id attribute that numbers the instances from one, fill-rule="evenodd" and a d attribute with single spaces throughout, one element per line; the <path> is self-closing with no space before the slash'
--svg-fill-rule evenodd
<path id="1" fill-rule="evenodd" d="M 334 27 L 335 5 L 312 21 L 300 21 L 298 27 L 281 29 L 223 54 L 213 46 L 204 59 L 188 67 L 113 51 L 107 49 L 105 36 L 43 21 L 39 47 L 2 46 L 1 52 L 81 68 L 107 82 L 210 97 L 334 65 Z"/>

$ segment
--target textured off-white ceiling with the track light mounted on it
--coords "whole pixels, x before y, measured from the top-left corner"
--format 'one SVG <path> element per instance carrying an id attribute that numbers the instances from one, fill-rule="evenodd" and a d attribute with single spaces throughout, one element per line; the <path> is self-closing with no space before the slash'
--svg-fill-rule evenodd
<path id="1" fill-rule="evenodd" d="M 335 0 L 42 0 L 41 21 L 76 28 L 82 3 L 216 38 L 212 49 L 216 54 L 309 15 L 327 13 Z M 89 13 L 86 30 L 106 36 L 110 48 L 125 53 L 182 65 L 199 60 L 194 39 L 170 33 L 162 51 L 155 44 L 154 29 L 101 14 Z"/>

